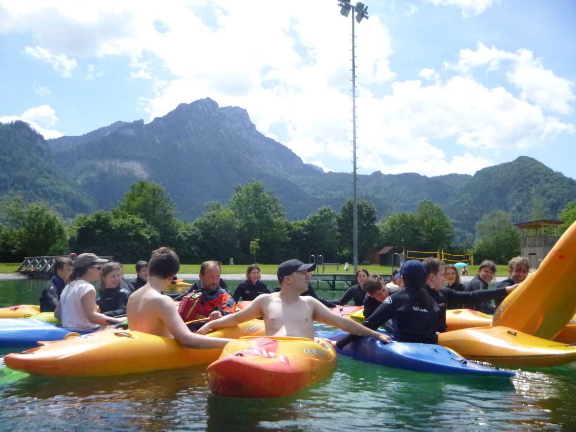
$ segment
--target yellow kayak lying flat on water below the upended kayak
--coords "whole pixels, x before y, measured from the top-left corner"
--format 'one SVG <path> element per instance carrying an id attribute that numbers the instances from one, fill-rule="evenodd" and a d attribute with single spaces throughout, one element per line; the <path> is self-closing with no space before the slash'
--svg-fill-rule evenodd
<path id="1" fill-rule="evenodd" d="M 438 335 L 438 344 L 462 357 L 507 366 L 556 366 L 576 360 L 576 347 L 509 327 L 476 327 Z"/>

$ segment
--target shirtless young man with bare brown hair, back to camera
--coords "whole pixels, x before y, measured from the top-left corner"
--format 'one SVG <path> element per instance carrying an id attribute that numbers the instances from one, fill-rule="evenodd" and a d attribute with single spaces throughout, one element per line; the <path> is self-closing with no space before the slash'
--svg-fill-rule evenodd
<path id="1" fill-rule="evenodd" d="M 148 264 L 148 282 L 128 299 L 126 313 L 130 329 L 173 337 L 188 348 L 222 348 L 232 339 L 192 333 L 180 318 L 172 298 L 161 294 L 178 270 L 180 259 L 172 249 L 163 247 L 152 252 Z"/>

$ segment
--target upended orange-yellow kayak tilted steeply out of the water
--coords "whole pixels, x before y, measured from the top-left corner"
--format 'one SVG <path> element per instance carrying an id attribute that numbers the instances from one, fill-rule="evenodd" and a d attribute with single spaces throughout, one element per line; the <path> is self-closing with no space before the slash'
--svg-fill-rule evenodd
<path id="1" fill-rule="evenodd" d="M 536 272 L 502 301 L 492 325 L 552 339 L 576 313 L 576 222 L 562 234 Z"/>

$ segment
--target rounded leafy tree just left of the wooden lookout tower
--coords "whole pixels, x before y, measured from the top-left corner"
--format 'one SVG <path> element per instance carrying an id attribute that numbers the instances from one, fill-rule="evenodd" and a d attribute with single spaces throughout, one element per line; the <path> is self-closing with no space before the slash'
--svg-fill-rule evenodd
<path id="1" fill-rule="evenodd" d="M 520 255 L 520 233 L 512 224 L 512 217 L 505 211 L 491 211 L 476 223 L 474 259 L 492 260 L 505 264 Z"/>

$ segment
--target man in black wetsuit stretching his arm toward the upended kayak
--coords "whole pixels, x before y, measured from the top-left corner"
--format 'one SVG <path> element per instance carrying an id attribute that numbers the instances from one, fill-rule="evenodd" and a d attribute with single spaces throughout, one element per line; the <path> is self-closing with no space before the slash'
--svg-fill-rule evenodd
<path id="1" fill-rule="evenodd" d="M 426 278 L 428 295 L 434 298 L 440 307 L 437 330 L 441 333 L 446 331 L 446 305 L 450 302 L 464 302 L 472 305 L 483 304 L 496 298 L 506 297 L 518 286 L 513 285 L 494 290 L 463 291 L 460 293 L 444 286 L 444 281 L 446 280 L 444 277 L 444 261 L 436 258 L 426 258 L 423 264 L 426 266 L 428 273 Z"/>

